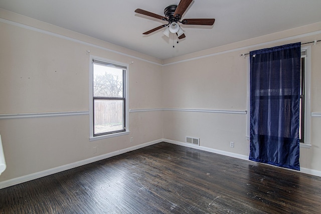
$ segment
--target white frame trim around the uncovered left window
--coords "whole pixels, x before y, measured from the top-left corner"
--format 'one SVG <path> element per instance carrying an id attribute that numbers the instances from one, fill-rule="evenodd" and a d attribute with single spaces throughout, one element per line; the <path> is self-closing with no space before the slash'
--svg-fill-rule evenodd
<path id="1" fill-rule="evenodd" d="M 94 136 L 93 133 L 93 59 L 100 60 L 103 62 L 108 62 L 120 66 L 125 66 L 126 72 L 125 72 L 125 124 L 126 124 L 126 131 L 124 132 L 118 132 L 118 133 L 112 133 L 112 134 L 106 134 L 106 135 L 100 135 L 100 136 Z M 124 64 L 121 62 L 108 60 L 102 57 L 97 57 L 94 55 L 89 55 L 89 141 L 94 140 L 101 140 L 111 137 L 118 137 L 122 135 L 129 134 L 129 65 Z"/>

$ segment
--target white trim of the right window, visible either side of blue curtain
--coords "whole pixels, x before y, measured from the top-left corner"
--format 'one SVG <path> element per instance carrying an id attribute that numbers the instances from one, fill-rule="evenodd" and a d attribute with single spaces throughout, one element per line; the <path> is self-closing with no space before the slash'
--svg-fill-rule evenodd
<path id="1" fill-rule="evenodd" d="M 311 46 L 301 47 L 305 51 L 305 103 L 304 103 L 304 143 L 300 143 L 301 148 L 311 147 Z M 247 126 L 246 139 L 250 142 L 250 58 L 247 60 Z M 249 150 L 249 148 L 248 148 Z"/>

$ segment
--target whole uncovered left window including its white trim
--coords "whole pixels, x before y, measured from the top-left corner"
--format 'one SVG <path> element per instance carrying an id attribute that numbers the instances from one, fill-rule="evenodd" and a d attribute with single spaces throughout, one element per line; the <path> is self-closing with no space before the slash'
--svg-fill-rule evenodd
<path id="1" fill-rule="evenodd" d="M 90 56 L 90 139 L 128 133 L 127 67 Z"/>

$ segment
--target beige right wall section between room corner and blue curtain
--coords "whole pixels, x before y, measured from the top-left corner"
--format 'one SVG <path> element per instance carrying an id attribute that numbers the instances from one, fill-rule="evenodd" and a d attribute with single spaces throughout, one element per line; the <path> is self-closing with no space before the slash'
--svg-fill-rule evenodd
<path id="1" fill-rule="evenodd" d="M 247 110 L 247 60 L 222 54 L 164 66 L 164 107 L 198 110 Z M 200 145 L 247 153 L 246 114 L 164 112 L 164 138 L 185 142 L 200 138 Z M 235 147 L 230 148 L 230 141 Z"/>

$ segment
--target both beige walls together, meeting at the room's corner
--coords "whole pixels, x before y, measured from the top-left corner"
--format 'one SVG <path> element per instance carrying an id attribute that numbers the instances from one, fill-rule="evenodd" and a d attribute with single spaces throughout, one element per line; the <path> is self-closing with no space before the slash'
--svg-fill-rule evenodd
<path id="1" fill-rule="evenodd" d="M 321 23 L 317 23 L 162 62 L 37 20 L 0 12 L 0 18 L 9 20 L 0 22 L 2 115 L 89 111 L 86 50 L 129 64 L 129 109 L 244 112 L 248 59 L 240 54 L 321 39 L 317 34 L 282 41 L 320 31 Z M 311 53 L 311 112 L 319 113 L 321 44 L 312 44 Z M 129 135 L 90 142 L 88 114 L 0 119 L 7 162 L 0 182 L 163 138 L 185 142 L 186 136 L 199 137 L 201 146 L 248 155 L 247 114 L 156 110 L 130 112 L 129 120 Z M 321 171 L 321 117 L 312 117 L 311 127 L 312 146 L 301 148 L 301 167 Z M 234 148 L 229 147 L 230 141 L 235 142 Z M 95 154 L 93 147 L 97 147 Z"/>

